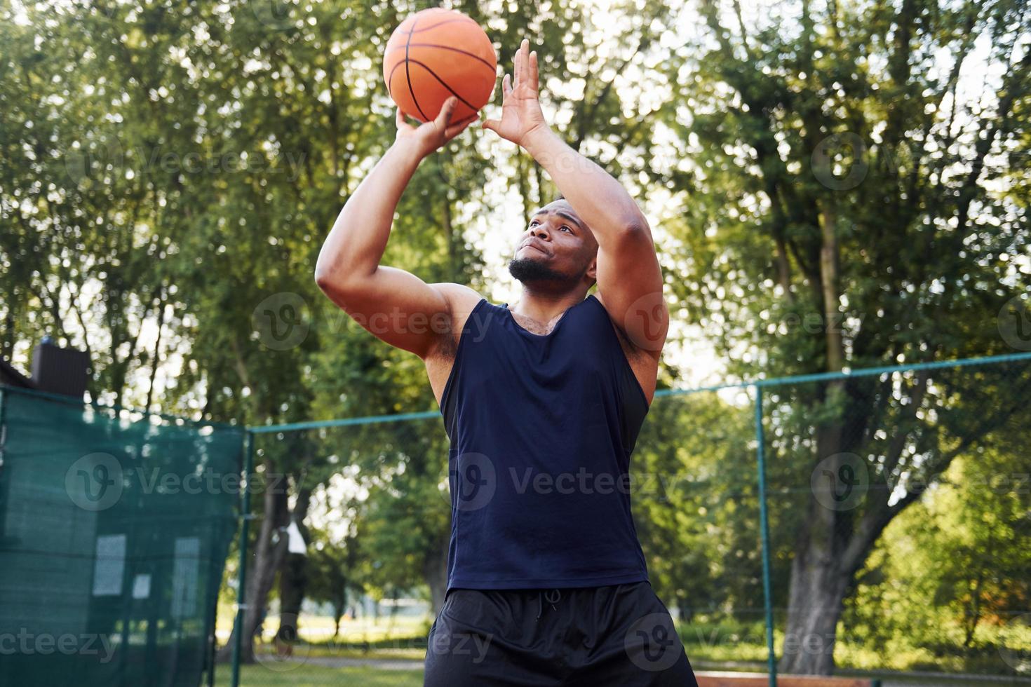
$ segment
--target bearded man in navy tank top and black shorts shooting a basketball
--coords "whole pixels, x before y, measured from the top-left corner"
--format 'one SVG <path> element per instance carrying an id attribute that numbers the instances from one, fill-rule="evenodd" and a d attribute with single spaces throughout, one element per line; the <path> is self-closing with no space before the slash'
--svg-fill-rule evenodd
<path id="1" fill-rule="evenodd" d="M 527 40 L 502 94 L 501 119 L 483 128 L 525 148 L 564 195 L 519 237 L 516 306 L 379 265 L 420 161 L 470 124 L 448 126 L 454 98 L 418 129 L 398 110 L 394 146 L 315 269 L 343 310 L 425 362 L 451 438 L 447 593 L 425 684 L 697 685 L 630 513 L 630 454 L 669 328 L 651 230 L 544 123 Z"/>

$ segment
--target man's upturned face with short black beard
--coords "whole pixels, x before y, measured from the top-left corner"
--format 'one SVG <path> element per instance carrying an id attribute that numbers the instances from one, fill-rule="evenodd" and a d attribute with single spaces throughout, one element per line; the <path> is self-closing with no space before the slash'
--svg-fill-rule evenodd
<path id="1" fill-rule="evenodd" d="M 530 220 L 516 243 L 516 253 L 508 272 L 523 283 L 556 282 L 569 284 L 591 275 L 594 283 L 594 259 L 598 243 L 576 211 L 565 200 L 548 203 L 530 215 Z"/>

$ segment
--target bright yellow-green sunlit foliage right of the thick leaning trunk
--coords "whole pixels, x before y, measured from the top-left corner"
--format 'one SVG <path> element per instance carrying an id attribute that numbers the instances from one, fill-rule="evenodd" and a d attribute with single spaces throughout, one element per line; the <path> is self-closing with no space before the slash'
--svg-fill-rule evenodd
<path id="1" fill-rule="evenodd" d="M 886 529 L 845 606 L 856 636 L 878 650 L 995 653 L 978 628 L 1004 625 L 1031 602 L 1031 554 L 1015 545 L 1031 512 L 1031 463 L 1018 436 L 954 461 Z"/>

